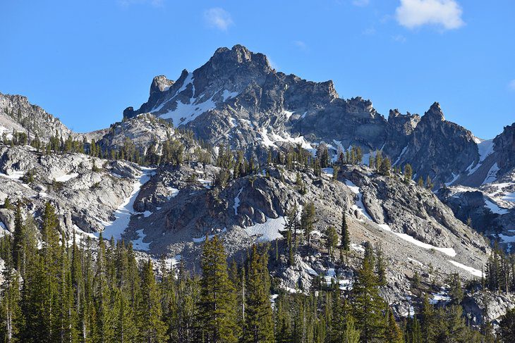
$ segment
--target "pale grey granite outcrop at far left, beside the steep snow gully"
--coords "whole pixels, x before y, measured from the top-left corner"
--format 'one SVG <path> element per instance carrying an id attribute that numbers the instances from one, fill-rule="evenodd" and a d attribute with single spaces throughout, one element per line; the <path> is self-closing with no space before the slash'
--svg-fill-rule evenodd
<path id="1" fill-rule="evenodd" d="M 131 163 L 85 154 L 41 155 L 26 146 L 0 146 L 0 202 L 21 201 L 24 213 L 37 217 L 50 201 L 67 232 L 97 232 L 114 220 L 139 173 Z M 2 211 L 0 220 L 12 231 L 13 210 Z"/>

